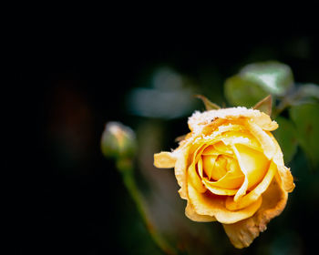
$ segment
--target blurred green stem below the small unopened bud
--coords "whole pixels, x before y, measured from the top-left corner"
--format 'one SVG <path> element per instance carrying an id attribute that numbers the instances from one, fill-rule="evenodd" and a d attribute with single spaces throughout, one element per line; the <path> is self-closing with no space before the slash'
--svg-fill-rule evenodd
<path id="1" fill-rule="evenodd" d="M 167 254 L 178 254 L 176 250 L 170 247 L 169 243 L 163 239 L 160 233 L 155 229 L 153 224 L 151 223 L 151 219 L 149 217 L 149 211 L 147 209 L 144 198 L 141 196 L 139 192 L 139 188 L 135 182 L 133 176 L 133 167 L 131 169 L 125 169 L 120 171 L 123 177 L 124 184 L 126 188 L 129 190 L 129 194 L 131 198 L 134 200 L 137 205 L 137 209 L 139 210 L 139 214 L 144 220 L 147 229 L 149 230 L 149 234 L 154 240 L 154 242 Z"/>

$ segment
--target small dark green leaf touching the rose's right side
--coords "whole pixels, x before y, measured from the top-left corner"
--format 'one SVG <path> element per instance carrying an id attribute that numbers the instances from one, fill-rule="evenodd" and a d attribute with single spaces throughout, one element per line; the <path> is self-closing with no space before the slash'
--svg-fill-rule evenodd
<path id="1" fill-rule="evenodd" d="M 273 135 L 277 139 L 280 147 L 283 150 L 283 159 L 287 163 L 293 159 L 297 151 L 298 140 L 293 122 L 285 117 L 277 117 L 276 121 L 279 125 Z"/>

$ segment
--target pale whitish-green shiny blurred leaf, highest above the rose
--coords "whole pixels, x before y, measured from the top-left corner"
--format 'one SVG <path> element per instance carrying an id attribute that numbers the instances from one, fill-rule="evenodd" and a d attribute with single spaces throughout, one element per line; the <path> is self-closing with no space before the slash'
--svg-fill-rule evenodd
<path id="1" fill-rule="evenodd" d="M 239 74 L 242 78 L 259 84 L 275 96 L 283 96 L 293 86 L 291 68 L 275 61 L 244 66 Z"/>

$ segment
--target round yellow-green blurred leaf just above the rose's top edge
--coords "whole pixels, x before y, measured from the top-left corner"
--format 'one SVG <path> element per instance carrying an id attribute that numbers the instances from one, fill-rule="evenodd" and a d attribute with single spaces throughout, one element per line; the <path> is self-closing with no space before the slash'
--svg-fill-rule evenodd
<path id="1" fill-rule="evenodd" d="M 252 107 L 269 93 L 258 83 L 243 78 L 232 76 L 224 85 L 225 97 L 234 106 Z"/>

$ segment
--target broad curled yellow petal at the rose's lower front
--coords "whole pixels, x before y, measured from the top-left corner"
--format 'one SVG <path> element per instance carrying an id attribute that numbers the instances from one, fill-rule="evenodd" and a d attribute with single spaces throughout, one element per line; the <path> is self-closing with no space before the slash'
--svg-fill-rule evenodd
<path id="1" fill-rule="evenodd" d="M 225 208 L 223 196 L 211 193 L 199 193 L 191 184 L 188 185 L 189 202 L 197 214 L 215 217 L 221 223 L 234 223 L 252 217 L 262 204 L 262 197 L 245 209 L 232 211 Z"/>

